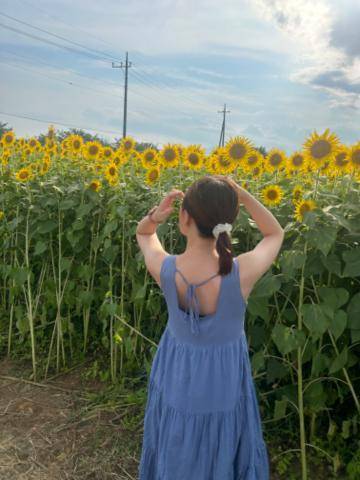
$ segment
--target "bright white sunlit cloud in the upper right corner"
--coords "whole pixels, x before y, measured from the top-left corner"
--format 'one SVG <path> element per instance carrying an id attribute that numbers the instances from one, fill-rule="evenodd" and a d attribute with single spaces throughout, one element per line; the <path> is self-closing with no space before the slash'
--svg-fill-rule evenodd
<path id="1" fill-rule="evenodd" d="M 275 23 L 294 46 L 295 71 L 290 74 L 290 80 L 328 92 L 330 108 L 359 105 L 359 59 L 349 56 L 333 37 L 343 3 L 339 8 L 339 2 L 335 4 L 330 0 L 253 0 L 253 5 L 263 18 Z M 351 18 L 349 10 L 347 18 Z M 350 40 L 353 40 L 351 36 Z"/>

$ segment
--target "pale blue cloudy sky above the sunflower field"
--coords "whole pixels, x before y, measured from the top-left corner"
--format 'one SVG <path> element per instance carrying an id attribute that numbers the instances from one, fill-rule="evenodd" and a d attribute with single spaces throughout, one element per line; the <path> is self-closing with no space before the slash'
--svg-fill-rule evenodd
<path id="1" fill-rule="evenodd" d="M 359 0 L 2 0 L 0 121 L 138 142 L 360 140 Z M 42 121 L 35 121 L 42 120 Z M 59 124 L 59 125 L 58 125 Z"/>

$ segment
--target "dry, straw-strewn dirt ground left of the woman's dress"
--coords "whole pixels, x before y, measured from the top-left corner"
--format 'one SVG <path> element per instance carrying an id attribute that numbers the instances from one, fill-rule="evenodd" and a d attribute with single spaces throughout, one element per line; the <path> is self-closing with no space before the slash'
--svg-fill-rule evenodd
<path id="1" fill-rule="evenodd" d="M 102 405 L 104 384 L 81 368 L 46 382 L 18 377 L 28 378 L 0 361 L 0 480 L 137 479 L 138 406 Z"/>

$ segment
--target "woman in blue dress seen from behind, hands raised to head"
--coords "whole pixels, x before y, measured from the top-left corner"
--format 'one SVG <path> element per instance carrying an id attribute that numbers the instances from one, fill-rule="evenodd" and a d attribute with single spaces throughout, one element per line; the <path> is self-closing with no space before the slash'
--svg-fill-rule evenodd
<path id="1" fill-rule="evenodd" d="M 180 255 L 156 227 L 182 199 Z M 264 238 L 233 256 L 230 232 L 243 204 Z M 140 480 L 267 480 L 269 462 L 251 373 L 244 317 L 284 230 L 230 177 L 206 175 L 171 191 L 137 227 L 145 264 L 163 291 L 168 321 L 148 383 Z"/>

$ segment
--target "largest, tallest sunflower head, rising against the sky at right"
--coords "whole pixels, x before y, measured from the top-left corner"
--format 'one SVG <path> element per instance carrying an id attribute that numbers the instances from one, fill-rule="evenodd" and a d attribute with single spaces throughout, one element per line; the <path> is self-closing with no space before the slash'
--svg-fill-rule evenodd
<path id="1" fill-rule="evenodd" d="M 318 170 L 340 149 L 340 140 L 327 128 L 322 135 L 316 130 L 304 143 L 305 156 L 314 169 Z"/>

